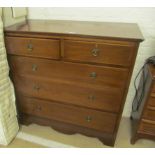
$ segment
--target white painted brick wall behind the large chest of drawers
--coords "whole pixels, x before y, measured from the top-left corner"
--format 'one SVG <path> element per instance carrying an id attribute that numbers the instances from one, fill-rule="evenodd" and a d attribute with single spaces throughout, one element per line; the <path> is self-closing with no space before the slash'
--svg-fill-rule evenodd
<path id="1" fill-rule="evenodd" d="M 140 45 L 123 115 L 130 116 L 133 79 L 149 56 L 155 55 L 155 8 L 29 8 L 30 19 L 63 19 L 138 23 L 145 41 Z"/>

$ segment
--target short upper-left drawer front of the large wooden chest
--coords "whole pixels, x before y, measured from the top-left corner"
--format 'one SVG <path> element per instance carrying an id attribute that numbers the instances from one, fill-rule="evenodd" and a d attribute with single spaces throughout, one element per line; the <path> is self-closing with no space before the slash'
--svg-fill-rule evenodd
<path id="1" fill-rule="evenodd" d="M 54 39 L 36 39 L 22 37 L 6 37 L 6 49 L 9 54 L 60 58 L 60 42 Z"/>

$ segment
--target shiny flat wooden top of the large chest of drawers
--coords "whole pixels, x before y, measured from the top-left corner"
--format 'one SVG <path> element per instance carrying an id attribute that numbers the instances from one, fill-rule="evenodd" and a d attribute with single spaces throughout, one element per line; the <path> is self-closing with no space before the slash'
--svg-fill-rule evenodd
<path id="1" fill-rule="evenodd" d="M 5 28 L 5 33 L 51 33 L 65 36 L 96 36 L 143 41 L 134 23 L 88 22 L 67 20 L 28 20 Z"/>

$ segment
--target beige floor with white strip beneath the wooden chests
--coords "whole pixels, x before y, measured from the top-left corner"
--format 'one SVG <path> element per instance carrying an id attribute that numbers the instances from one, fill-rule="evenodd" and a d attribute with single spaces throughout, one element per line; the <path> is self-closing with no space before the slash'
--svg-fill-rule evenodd
<path id="1" fill-rule="evenodd" d="M 155 141 L 138 140 L 135 145 L 130 144 L 130 120 L 123 118 L 118 131 L 115 148 L 155 148 Z M 0 146 L 4 147 L 4 146 Z M 17 137 L 7 146 L 8 148 L 41 148 L 41 147 L 80 147 L 106 148 L 97 138 L 90 138 L 81 134 L 65 135 L 50 127 L 36 124 L 22 126 Z"/>

